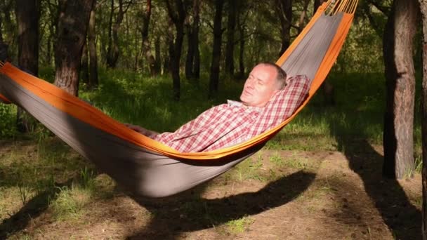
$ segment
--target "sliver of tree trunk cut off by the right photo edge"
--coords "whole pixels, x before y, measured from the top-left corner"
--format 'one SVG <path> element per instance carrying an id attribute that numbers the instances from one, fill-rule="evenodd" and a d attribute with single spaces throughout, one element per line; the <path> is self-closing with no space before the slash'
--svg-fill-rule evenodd
<path id="1" fill-rule="evenodd" d="M 427 240 L 427 0 L 419 0 L 421 19 L 423 22 L 423 81 L 421 88 L 421 138 L 423 149 L 423 220 L 421 232 L 423 240 Z"/>

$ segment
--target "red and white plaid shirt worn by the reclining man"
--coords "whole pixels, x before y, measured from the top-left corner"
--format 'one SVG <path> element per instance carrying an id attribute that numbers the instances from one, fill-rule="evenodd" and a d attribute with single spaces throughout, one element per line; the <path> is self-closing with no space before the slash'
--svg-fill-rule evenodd
<path id="1" fill-rule="evenodd" d="M 151 138 L 179 152 L 206 152 L 237 145 L 291 116 L 306 98 L 309 86 L 307 76 L 294 76 L 287 79 L 287 86 L 265 107 L 247 107 L 242 102 L 228 100 L 228 104 L 206 110 L 174 133 Z"/>

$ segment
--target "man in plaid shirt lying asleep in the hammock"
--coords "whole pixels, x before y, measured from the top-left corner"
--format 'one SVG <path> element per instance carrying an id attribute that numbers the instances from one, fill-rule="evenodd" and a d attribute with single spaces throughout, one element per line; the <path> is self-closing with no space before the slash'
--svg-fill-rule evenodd
<path id="1" fill-rule="evenodd" d="M 179 152 L 206 152 L 236 145 L 280 124 L 294 112 L 296 105 L 301 105 L 309 85 L 305 76 L 296 80 L 301 79 L 289 94 L 278 94 L 286 86 L 287 74 L 281 67 L 263 62 L 252 69 L 244 83 L 242 102 L 228 100 L 228 104 L 212 107 L 174 133 L 160 134 L 140 126 L 126 126 Z M 296 100 L 292 99 L 294 96 Z M 293 107 L 284 100 L 290 100 Z"/>

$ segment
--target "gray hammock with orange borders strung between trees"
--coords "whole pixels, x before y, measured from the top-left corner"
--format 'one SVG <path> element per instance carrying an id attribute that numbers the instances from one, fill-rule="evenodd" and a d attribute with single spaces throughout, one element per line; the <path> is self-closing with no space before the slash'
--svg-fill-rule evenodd
<path id="1" fill-rule="evenodd" d="M 270 140 L 313 97 L 346 38 L 358 0 L 329 0 L 277 60 L 289 76 L 312 80 L 308 98 L 279 126 L 239 145 L 180 153 L 140 135 L 100 110 L 6 62 L 0 68 L 0 101 L 13 102 L 133 194 L 163 197 L 215 178 Z"/>

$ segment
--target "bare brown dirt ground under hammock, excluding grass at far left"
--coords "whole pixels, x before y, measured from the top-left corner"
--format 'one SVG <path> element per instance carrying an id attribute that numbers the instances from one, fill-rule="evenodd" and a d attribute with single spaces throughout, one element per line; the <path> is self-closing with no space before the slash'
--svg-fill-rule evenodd
<path id="1" fill-rule="evenodd" d="M 11 208 L 0 229 L 19 226 L 9 239 L 421 239 L 421 175 L 384 179 L 382 156 L 367 142 L 343 152 L 262 149 L 166 199 L 107 184 L 107 195 L 93 197 L 74 220 L 31 206 L 42 197 L 34 196 Z"/>

